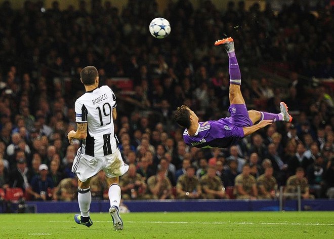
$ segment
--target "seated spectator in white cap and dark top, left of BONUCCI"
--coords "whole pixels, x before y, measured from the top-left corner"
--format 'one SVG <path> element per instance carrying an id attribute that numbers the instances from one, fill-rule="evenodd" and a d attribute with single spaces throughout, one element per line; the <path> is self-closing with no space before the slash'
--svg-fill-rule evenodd
<path id="1" fill-rule="evenodd" d="M 39 175 L 31 179 L 30 193 L 34 200 L 50 200 L 52 198 L 52 191 L 54 188 L 53 180 L 48 176 L 49 168 L 46 164 L 39 165 Z"/>

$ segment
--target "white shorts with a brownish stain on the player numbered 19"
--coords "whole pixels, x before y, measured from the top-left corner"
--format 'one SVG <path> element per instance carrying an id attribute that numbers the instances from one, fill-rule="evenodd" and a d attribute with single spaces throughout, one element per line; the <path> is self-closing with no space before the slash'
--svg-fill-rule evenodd
<path id="1" fill-rule="evenodd" d="M 128 169 L 129 165 L 124 164 L 118 148 L 112 154 L 98 157 L 81 154 L 78 150 L 72 166 L 72 172 L 78 176 L 81 182 L 86 182 L 101 170 L 108 178 L 115 178 L 122 176 Z"/>

